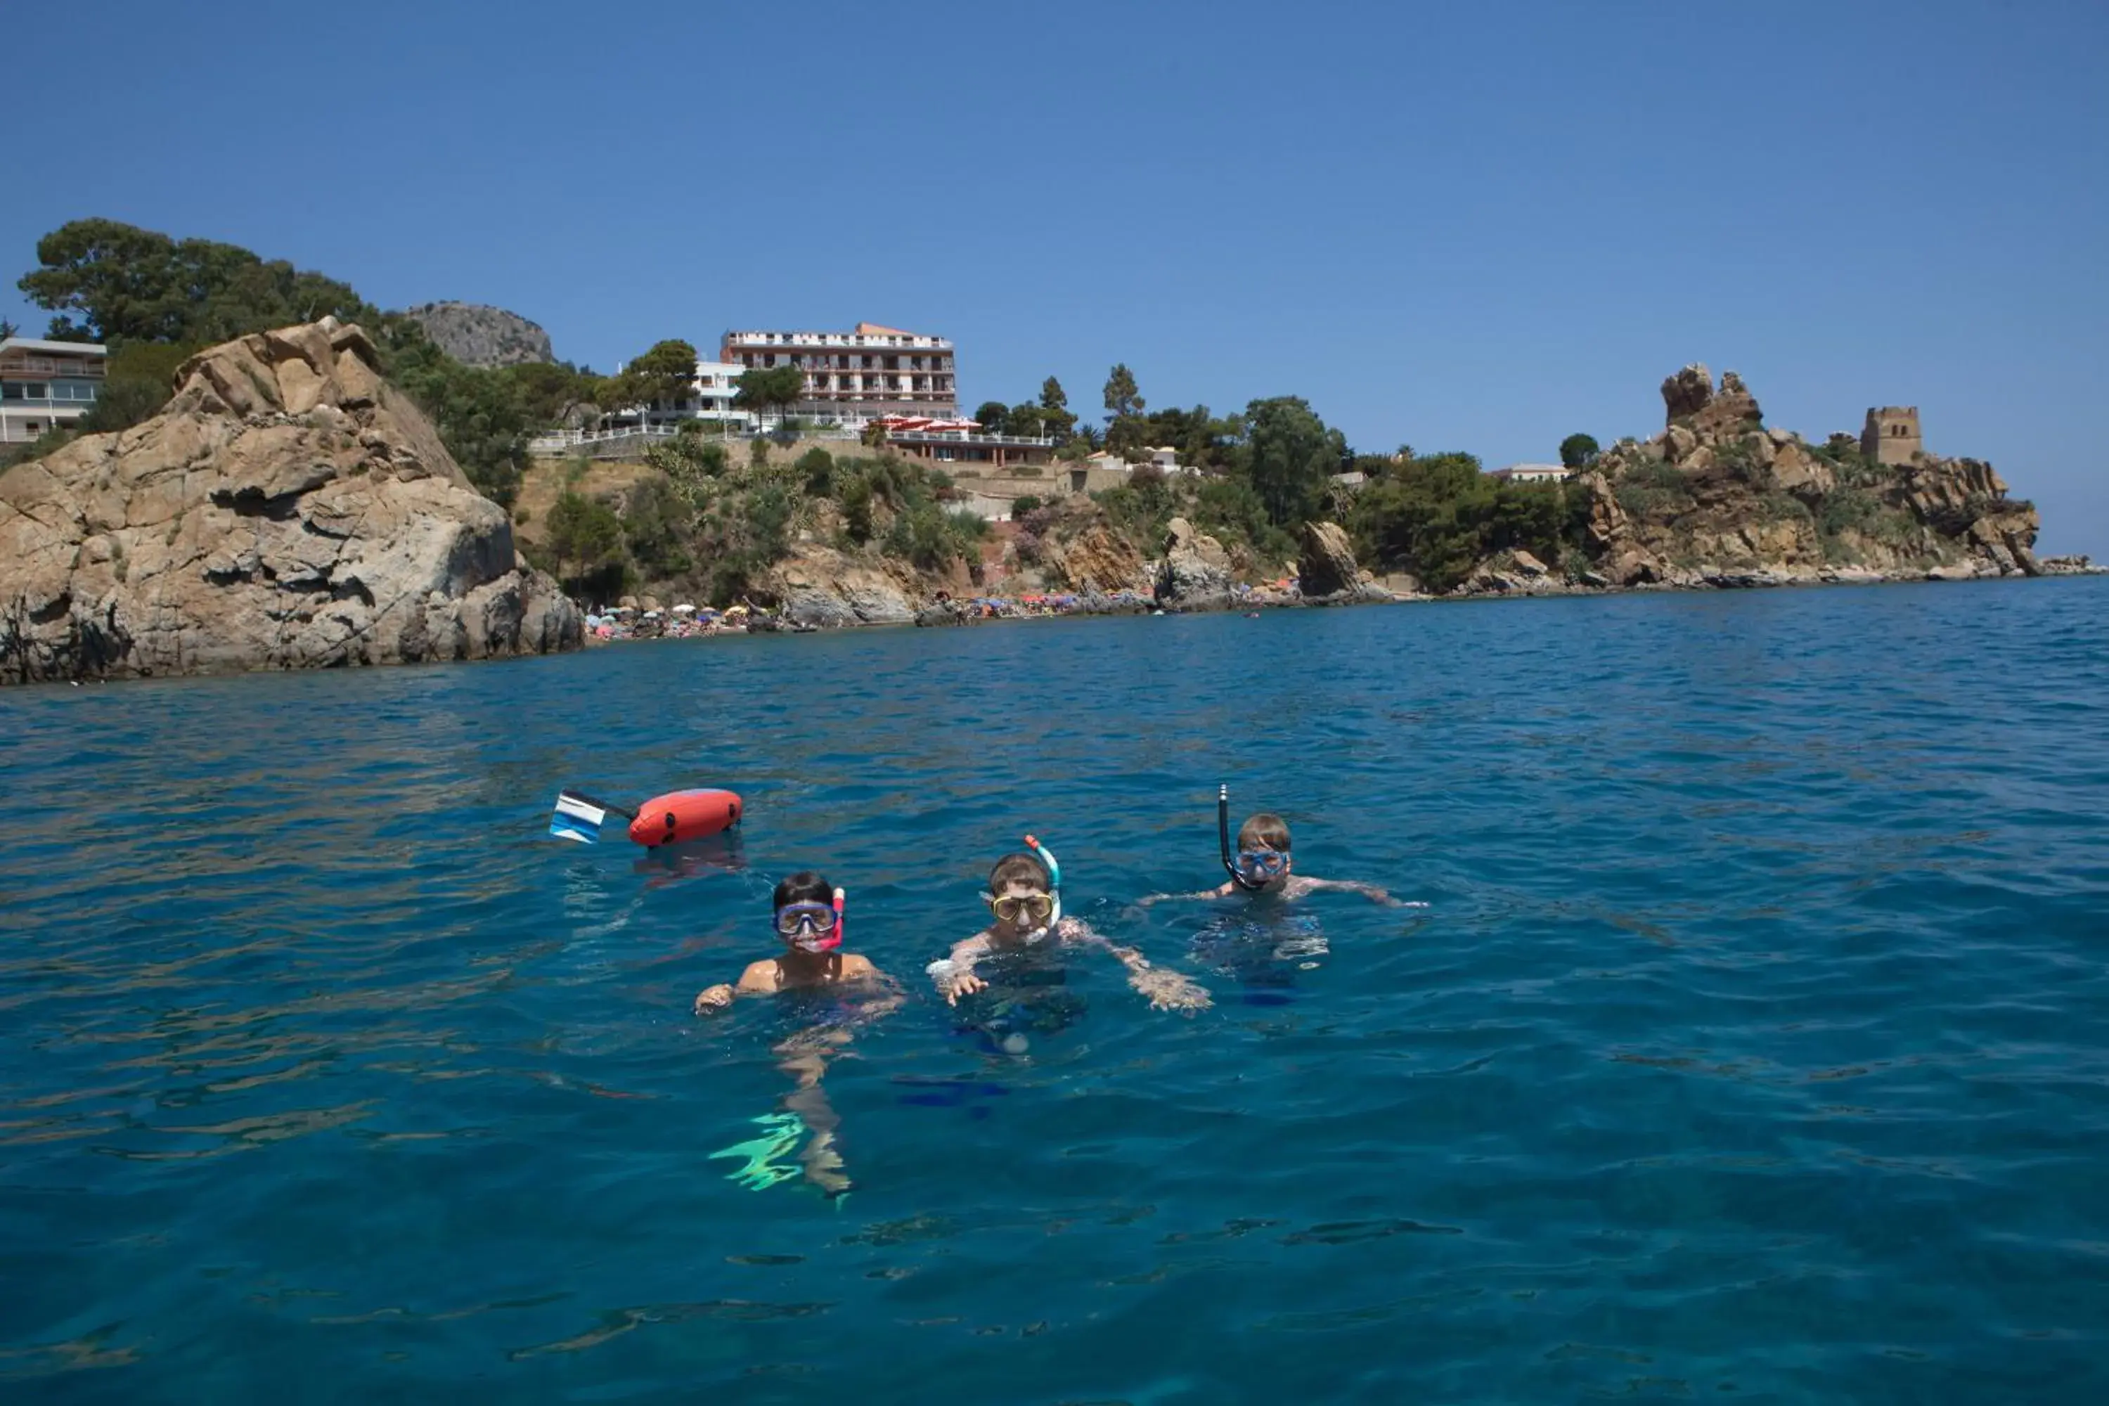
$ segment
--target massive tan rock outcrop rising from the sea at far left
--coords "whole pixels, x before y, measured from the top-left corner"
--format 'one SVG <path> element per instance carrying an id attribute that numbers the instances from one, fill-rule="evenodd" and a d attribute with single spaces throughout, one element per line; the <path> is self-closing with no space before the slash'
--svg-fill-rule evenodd
<path id="1" fill-rule="evenodd" d="M 0 474 L 13 683 L 576 649 L 430 422 L 333 318 L 190 358 L 160 415 Z"/>

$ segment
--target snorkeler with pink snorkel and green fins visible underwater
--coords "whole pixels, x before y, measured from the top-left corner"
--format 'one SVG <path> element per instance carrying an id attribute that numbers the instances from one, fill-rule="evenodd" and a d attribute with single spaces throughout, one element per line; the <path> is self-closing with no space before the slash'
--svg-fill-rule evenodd
<path id="1" fill-rule="evenodd" d="M 696 997 L 696 1014 L 721 1012 L 742 995 L 820 993 L 837 987 L 869 997 L 852 1016 L 858 1022 L 898 1005 L 898 989 L 867 957 L 841 951 L 841 890 L 816 873 L 795 873 L 778 883 L 772 909 L 776 936 L 785 940 L 787 951 L 749 963 L 738 984 L 719 982 L 704 989 Z M 823 1020 L 774 1048 L 776 1067 L 791 1075 L 795 1088 L 785 1096 L 782 1113 L 755 1119 L 766 1128 L 763 1136 L 713 1153 L 713 1157 L 744 1159 L 744 1166 L 732 1172 L 736 1180 L 761 1191 L 795 1176 L 797 1172 L 776 1159 L 797 1147 L 799 1136 L 810 1130 L 812 1140 L 799 1153 L 806 1180 L 829 1197 L 850 1189 L 841 1153 L 835 1151 L 841 1119 L 820 1088 L 829 1060 L 848 1043 L 850 1024 Z"/>

